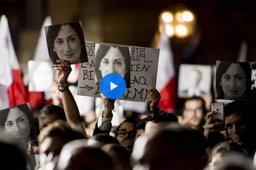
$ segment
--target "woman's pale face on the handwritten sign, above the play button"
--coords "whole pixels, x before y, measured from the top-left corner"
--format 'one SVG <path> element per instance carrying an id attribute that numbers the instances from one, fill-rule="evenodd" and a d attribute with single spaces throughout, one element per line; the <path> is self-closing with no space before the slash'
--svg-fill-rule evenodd
<path id="1" fill-rule="evenodd" d="M 101 70 L 102 77 L 110 73 L 117 73 L 122 77 L 125 76 L 125 58 L 117 47 L 110 47 L 101 60 L 99 70 Z"/>

